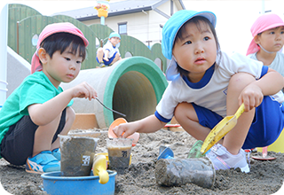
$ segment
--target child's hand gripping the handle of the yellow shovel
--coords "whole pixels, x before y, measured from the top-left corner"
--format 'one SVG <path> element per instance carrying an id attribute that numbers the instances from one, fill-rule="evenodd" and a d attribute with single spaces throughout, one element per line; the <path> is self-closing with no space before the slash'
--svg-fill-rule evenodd
<path id="1" fill-rule="evenodd" d="M 239 97 L 239 105 L 244 103 L 245 112 L 257 107 L 262 103 L 264 99 L 264 94 L 262 90 L 253 83 L 250 83 L 245 89 L 241 91 L 241 95 Z"/>

